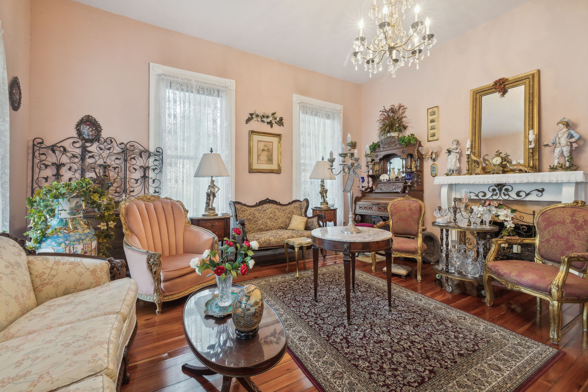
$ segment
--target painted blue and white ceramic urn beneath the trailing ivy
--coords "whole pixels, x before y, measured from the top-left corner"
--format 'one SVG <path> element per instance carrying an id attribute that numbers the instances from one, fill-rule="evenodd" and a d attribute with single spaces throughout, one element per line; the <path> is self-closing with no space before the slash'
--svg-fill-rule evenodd
<path id="1" fill-rule="evenodd" d="M 83 203 L 80 197 L 59 200 L 55 216 L 49 222 L 46 235 L 37 252 L 77 253 L 96 256 L 96 233 L 83 219 Z"/>

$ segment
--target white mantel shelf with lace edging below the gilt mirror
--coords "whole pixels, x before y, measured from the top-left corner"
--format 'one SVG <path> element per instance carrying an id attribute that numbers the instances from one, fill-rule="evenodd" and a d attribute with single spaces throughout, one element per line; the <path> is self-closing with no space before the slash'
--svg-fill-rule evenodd
<path id="1" fill-rule="evenodd" d="M 443 184 L 521 184 L 521 183 L 588 182 L 588 172 L 509 173 L 477 176 L 439 176 L 436 185 Z"/>

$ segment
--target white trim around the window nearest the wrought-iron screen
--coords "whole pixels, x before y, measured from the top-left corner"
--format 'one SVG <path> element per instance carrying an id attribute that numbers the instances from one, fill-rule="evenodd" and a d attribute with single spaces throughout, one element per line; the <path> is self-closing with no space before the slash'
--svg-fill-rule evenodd
<path id="1" fill-rule="evenodd" d="M 158 76 L 162 73 L 166 75 L 179 76 L 180 78 L 194 79 L 200 82 L 216 83 L 217 85 L 224 85 L 227 89 L 232 91 L 229 93 L 229 133 L 230 133 L 230 186 L 233 199 L 235 198 L 235 81 L 232 79 L 219 78 L 218 76 L 205 75 L 204 73 L 185 71 L 184 69 L 172 68 L 158 63 L 149 63 L 149 148 L 156 145 L 155 129 L 158 126 L 157 113 L 157 86 Z M 163 154 L 165 155 L 165 149 Z M 165 179 L 164 179 L 165 180 Z"/>

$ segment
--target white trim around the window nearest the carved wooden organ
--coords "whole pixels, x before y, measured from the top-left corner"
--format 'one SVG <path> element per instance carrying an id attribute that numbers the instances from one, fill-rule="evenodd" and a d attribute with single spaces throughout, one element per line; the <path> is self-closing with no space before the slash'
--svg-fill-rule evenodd
<path id="1" fill-rule="evenodd" d="M 300 102 L 323 106 L 339 112 L 341 123 L 341 137 L 343 132 L 343 105 L 326 102 L 324 100 L 308 98 L 306 96 L 292 94 L 292 199 L 300 197 Z M 337 146 L 335 146 L 336 148 Z"/>

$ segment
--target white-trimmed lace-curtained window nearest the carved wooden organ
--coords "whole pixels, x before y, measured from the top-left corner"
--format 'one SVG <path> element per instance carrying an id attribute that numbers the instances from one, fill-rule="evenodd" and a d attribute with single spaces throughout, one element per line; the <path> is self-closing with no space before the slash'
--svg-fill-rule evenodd
<path id="1" fill-rule="evenodd" d="M 322 100 L 293 95 L 293 190 L 296 199 L 309 199 L 310 207 L 320 203 L 320 180 L 308 177 L 317 160 L 329 158 L 332 150 L 335 157 L 342 146 L 343 106 Z M 334 166 L 337 166 L 335 162 Z M 338 172 L 336 169 L 335 173 Z M 336 176 L 335 180 L 325 180 L 329 189 L 327 199 L 335 203 L 337 221 L 343 222 L 343 180 Z"/>

